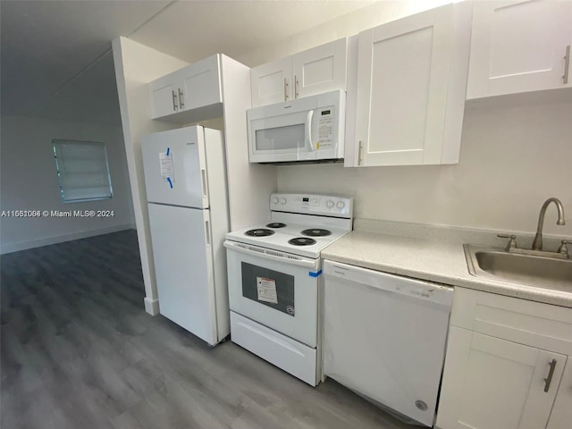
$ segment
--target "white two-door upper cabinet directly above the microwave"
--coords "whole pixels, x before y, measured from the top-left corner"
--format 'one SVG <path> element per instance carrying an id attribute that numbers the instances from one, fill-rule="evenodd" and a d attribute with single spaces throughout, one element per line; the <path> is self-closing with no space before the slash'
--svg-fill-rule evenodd
<path id="1" fill-rule="evenodd" d="M 250 71 L 252 106 L 346 90 L 348 39 L 316 46 Z"/>

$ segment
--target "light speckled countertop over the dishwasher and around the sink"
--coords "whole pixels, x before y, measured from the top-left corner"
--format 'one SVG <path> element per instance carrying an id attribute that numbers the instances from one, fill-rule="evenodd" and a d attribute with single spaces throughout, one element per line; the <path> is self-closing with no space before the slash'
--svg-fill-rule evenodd
<path id="1" fill-rule="evenodd" d="M 463 245 L 445 239 L 352 231 L 325 248 L 322 257 L 385 273 L 572 307 L 572 291 L 498 282 L 471 275 Z"/>

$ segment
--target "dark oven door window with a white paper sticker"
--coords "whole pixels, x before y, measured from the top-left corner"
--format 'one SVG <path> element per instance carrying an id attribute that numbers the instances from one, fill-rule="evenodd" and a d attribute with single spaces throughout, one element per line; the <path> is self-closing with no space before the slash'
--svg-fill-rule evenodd
<path id="1" fill-rule="evenodd" d="M 295 315 L 294 276 L 242 262 L 242 296 L 286 315 Z"/>

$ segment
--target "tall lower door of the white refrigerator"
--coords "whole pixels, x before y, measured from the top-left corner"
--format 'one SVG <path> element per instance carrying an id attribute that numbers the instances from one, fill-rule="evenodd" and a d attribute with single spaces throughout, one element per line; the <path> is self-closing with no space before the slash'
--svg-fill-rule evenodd
<path id="1" fill-rule="evenodd" d="M 161 314 L 216 344 L 209 211 L 149 204 L 149 220 Z"/>

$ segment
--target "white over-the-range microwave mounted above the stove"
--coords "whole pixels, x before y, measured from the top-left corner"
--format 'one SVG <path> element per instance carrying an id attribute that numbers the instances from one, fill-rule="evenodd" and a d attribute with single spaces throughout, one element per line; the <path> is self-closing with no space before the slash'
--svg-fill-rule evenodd
<path id="1" fill-rule="evenodd" d="M 251 163 L 336 162 L 343 159 L 346 93 L 341 90 L 249 109 Z"/>

